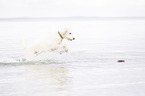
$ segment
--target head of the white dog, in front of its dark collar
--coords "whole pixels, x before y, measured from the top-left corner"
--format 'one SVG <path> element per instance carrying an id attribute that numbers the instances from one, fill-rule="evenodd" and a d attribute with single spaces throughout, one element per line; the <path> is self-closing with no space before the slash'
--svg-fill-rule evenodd
<path id="1" fill-rule="evenodd" d="M 63 39 L 67 39 L 69 41 L 75 40 L 74 36 L 72 35 L 72 32 L 69 29 L 64 29 L 62 32 Z"/>

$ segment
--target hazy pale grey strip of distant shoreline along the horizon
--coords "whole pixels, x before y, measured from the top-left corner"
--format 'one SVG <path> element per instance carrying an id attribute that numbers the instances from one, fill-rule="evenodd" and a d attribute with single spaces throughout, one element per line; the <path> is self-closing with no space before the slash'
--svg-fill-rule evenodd
<path id="1" fill-rule="evenodd" d="M 19 21 L 19 20 L 145 20 L 145 16 L 140 17 L 86 17 L 86 16 L 74 16 L 74 17 L 7 17 L 0 18 L 0 21 Z"/>

